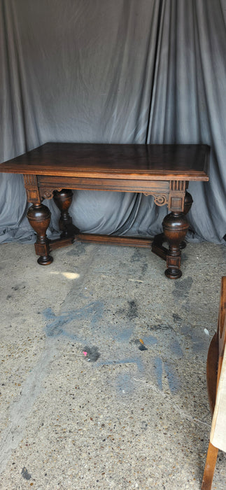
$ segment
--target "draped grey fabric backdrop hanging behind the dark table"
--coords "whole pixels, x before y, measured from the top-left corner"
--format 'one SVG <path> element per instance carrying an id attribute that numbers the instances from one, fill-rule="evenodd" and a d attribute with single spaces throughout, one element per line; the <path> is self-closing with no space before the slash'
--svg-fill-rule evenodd
<path id="1" fill-rule="evenodd" d="M 226 1 L 1 0 L 0 162 L 47 141 L 211 146 L 190 240 L 225 243 Z M 49 234 L 57 230 L 52 201 Z M 0 241 L 34 241 L 22 176 L 1 174 Z M 153 235 L 167 209 L 76 191 L 85 232 Z"/>

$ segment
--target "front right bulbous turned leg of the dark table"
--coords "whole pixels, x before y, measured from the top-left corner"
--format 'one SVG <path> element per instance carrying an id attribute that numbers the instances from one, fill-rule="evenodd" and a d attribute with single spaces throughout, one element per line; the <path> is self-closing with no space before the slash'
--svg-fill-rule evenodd
<path id="1" fill-rule="evenodd" d="M 181 277 L 181 248 L 180 244 L 185 239 L 188 231 L 188 220 L 181 213 L 172 212 L 167 214 L 163 223 L 164 236 L 169 243 L 169 251 L 167 253 L 167 270 L 165 274 L 169 279 L 178 279 Z"/>

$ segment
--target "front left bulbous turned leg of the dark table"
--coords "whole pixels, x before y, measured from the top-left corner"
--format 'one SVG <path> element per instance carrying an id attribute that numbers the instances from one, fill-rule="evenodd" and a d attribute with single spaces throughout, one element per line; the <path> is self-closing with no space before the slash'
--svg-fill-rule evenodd
<path id="1" fill-rule="evenodd" d="M 48 207 L 43 204 L 32 204 L 27 211 L 27 218 L 30 225 L 34 228 L 37 234 L 36 243 L 34 248 L 38 258 L 38 264 L 48 265 L 52 262 L 52 257 L 50 255 L 50 246 L 48 238 L 46 237 L 46 230 L 50 224 L 51 213 Z"/>

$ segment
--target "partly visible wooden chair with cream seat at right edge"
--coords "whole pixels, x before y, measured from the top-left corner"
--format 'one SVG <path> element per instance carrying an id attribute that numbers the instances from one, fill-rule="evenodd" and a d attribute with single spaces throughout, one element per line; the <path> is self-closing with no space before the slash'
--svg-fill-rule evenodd
<path id="1" fill-rule="evenodd" d="M 226 451 L 226 276 L 221 279 L 218 331 L 209 346 L 206 378 L 213 420 L 202 490 L 210 490 L 218 449 Z M 225 483 L 226 487 L 226 483 Z"/>

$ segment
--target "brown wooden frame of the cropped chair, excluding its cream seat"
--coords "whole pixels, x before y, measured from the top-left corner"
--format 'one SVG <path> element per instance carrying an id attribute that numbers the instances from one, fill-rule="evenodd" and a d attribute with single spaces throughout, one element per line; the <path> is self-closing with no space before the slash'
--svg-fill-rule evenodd
<path id="1" fill-rule="evenodd" d="M 220 372 L 223 363 L 226 344 L 226 276 L 221 279 L 220 290 L 220 307 L 218 316 L 218 332 L 213 336 L 209 346 L 209 352 L 206 363 L 206 378 L 209 395 L 209 403 L 213 414 L 216 404 L 216 395 L 220 379 Z M 209 448 L 206 455 L 206 465 L 204 477 L 202 480 L 202 490 L 211 490 L 218 448 L 209 442 Z"/>

